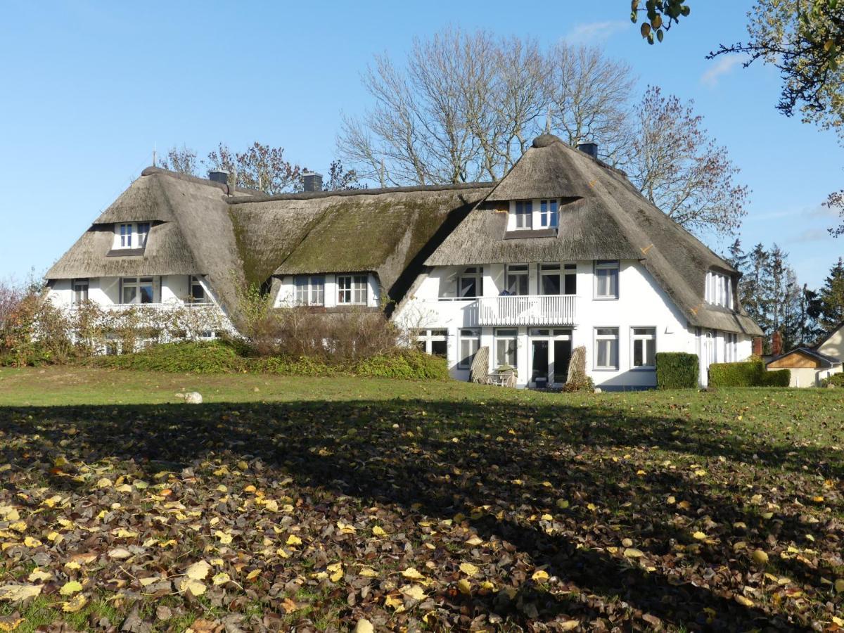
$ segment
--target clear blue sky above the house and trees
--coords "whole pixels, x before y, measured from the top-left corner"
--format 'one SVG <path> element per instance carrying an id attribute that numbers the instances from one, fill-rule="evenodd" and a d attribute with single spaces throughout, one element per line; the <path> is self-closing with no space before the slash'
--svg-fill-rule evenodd
<path id="1" fill-rule="evenodd" d="M 844 187 L 844 149 L 832 133 L 775 110 L 776 69 L 704 59 L 744 37 L 750 5 L 690 0 L 690 19 L 647 46 L 627 0 L 529 9 L 490 0 L 4 4 L 0 279 L 44 272 L 156 146 L 205 154 L 219 141 L 260 140 L 325 172 L 341 111 L 367 105 L 360 72 L 372 55 L 401 59 L 414 36 L 452 25 L 591 43 L 630 62 L 641 88 L 694 99 L 752 190 L 745 246 L 778 242 L 801 281 L 818 285 L 844 253 L 844 240 L 826 233 L 836 218 L 820 206 Z"/>

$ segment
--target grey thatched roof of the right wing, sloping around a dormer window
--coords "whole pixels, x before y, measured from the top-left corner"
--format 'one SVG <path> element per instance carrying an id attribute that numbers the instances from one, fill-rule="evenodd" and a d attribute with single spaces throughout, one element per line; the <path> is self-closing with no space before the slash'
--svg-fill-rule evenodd
<path id="1" fill-rule="evenodd" d="M 506 235 L 507 202 L 560 197 L 554 237 Z M 446 237 L 429 266 L 578 259 L 639 259 L 693 326 L 752 335 L 760 328 L 744 311 L 704 303 L 706 271 L 738 274 L 656 208 L 619 170 L 544 134 Z"/>

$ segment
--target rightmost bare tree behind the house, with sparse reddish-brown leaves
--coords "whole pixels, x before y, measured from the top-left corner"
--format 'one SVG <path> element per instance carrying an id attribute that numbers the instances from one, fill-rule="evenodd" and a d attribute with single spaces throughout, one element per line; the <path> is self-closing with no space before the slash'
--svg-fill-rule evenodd
<path id="1" fill-rule="evenodd" d="M 749 190 L 733 180 L 738 167 L 706 133 L 692 102 L 648 86 L 635 120 L 626 168 L 652 203 L 695 232 L 727 234 L 741 225 Z"/>

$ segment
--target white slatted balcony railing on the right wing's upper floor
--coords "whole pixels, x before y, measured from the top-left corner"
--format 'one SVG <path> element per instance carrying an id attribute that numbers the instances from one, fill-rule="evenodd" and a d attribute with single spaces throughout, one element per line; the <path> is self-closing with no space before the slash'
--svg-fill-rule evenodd
<path id="1" fill-rule="evenodd" d="M 575 325 L 575 295 L 481 297 L 479 325 Z"/>

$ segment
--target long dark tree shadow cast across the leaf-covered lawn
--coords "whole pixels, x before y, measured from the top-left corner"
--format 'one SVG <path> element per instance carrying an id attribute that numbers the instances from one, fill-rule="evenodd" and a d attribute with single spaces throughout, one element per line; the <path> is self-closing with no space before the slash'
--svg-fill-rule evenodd
<path id="1" fill-rule="evenodd" d="M 744 463 L 777 472 L 809 467 L 828 477 L 840 472 L 840 454 L 745 440 L 709 420 L 622 419 L 621 413 L 565 400 L 530 407 L 382 401 L 0 408 L 0 462 L 41 469 L 49 478 L 60 455 L 85 463 L 132 460 L 148 473 L 225 453 L 259 458 L 300 486 L 365 504 L 436 518 L 461 513 L 484 540 L 511 544 L 572 588 L 554 594 L 527 580 L 512 598 L 441 595 L 467 622 L 492 612 L 525 625 L 560 614 L 594 619 L 632 611 L 693 629 L 807 625 L 735 602 L 731 592 L 740 591 L 749 565 L 732 556 L 729 544 L 695 544 L 690 533 L 704 519 L 745 521 L 754 529 L 737 502 L 746 495 Z M 25 443 L 16 441 L 24 437 Z M 625 457 L 628 452 L 634 455 Z M 725 457 L 710 467 L 722 483 L 706 484 L 688 468 L 657 468 L 664 452 L 701 461 Z M 641 463 L 651 472 L 641 473 Z M 667 503 L 669 495 L 687 500 L 690 509 Z M 560 498 L 571 506 L 555 509 Z M 527 518 L 548 509 L 565 519 L 551 531 Z M 778 526 L 782 540 L 805 533 L 798 522 Z M 657 561 L 655 571 L 609 553 L 609 546 L 624 550 L 624 538 L 636 547 L 649 544 L 641 547 L 647 560 Z M 682 560 L 672 556 L 676 545 L 687 548 Z M 725 566 L 738 578 L 725 575 Z M 793 572 L 820 587 L 820 571 Z M 720 579 L 711 582 L 713 575 Z"/>

